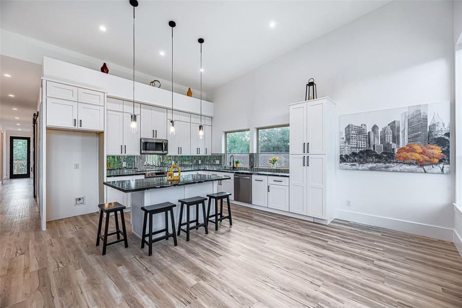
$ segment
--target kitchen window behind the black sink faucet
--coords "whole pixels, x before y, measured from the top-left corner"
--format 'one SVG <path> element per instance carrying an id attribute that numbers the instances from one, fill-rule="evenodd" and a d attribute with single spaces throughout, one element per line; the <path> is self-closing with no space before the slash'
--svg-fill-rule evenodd
<path id="1" fill-rule="evenodd" d="M 232 131 L 225 133 L 226 140 L 226 162 L 228 165 L 230 157 L 239 160 L 240 165 L 248 166 L 248 153 L 250 152 L 250 131 Z"/>

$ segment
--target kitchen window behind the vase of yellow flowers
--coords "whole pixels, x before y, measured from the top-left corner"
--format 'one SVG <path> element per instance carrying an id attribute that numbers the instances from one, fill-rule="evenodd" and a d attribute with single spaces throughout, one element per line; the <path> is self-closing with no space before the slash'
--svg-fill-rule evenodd
<path id="1" fill-rule="evenodd" d="M 274 126 L 257 129 L 257 164 L 259 167 L 271 167 L 268 159 L 279 157 L 277 167 L 289 166 L 289 127 Z"/>

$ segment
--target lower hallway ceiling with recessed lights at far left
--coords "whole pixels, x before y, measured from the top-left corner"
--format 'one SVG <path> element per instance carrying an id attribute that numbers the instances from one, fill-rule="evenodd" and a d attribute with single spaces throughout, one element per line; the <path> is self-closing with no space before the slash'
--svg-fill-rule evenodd
<path id="1" fill-rule="evenodd" d="M 9 133 L 31 133 L 32 115 L 37 110 L 40 92 L 42 66 L 2 55 L 0 73 L 0 122 L 4 130 Z M 3 74 L 10 74 L 11 78 Z M 9 94 L 13 94 L 14 98 L 9 97 Z"/>

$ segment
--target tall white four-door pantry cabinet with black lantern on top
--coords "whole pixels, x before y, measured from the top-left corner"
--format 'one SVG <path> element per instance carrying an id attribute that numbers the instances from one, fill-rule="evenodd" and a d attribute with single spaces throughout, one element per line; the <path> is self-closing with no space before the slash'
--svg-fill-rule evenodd
<path id="1" fill-rule="evenodd" d="M 335 208 L 335 103 L 325 97 L 289 106 L 289 210 L 329 223 Z"/>

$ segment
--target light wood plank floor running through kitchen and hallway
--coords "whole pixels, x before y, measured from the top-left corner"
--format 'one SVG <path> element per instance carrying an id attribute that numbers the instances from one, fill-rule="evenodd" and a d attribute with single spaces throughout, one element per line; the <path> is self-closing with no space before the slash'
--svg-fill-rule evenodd
<path id="1" fill-rule="evenodd" d="M 462 307 L 450 242 L 232 206 L 233 223 L 101 255 L 97 214 L 40 231 L 31 180 L 0 188 L 0 307 Z M 113 227 L 113 225 L 112 225 Z"/>

